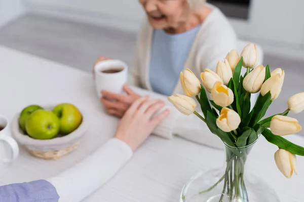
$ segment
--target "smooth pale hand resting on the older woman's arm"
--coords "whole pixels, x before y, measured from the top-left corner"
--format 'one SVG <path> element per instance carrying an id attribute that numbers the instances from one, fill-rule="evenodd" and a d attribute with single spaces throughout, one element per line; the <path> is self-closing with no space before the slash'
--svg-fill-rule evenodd
<path id="1" fill-rule="evenodd" d="M 157 114 L 164 105 L 164 102 L 149 100 L 147 96 L 137 99 L 119 123 L 115 137 L 126 142 L 135 151 L 169 115 L 169 110 Z"/>

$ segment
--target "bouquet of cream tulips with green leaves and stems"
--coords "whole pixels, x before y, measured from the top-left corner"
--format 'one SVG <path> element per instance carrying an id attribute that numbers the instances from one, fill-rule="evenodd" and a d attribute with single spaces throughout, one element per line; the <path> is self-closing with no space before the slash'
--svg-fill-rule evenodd
<path id="1" fill-rule="evenodd" d="M 291 96 L 284 112 L 263 119 L 281 92 L 285 72 L 280 68 L 270 72 L 269 66 L 257 63 L 255 44 L 246 45 L 241 58 L 234 49 L 227 54 L 224 62 L 217 63 L 216 72 L 206 69 L 201 73 L 203 85 L 191 70 L 181 72 L 180 82 L 185 95 L 168 97 L 179 112 L 185 115 L 194 113 L 231 148 L 227 150 L 226 147 L 226 171 L 219 182 L 224 180 L 223 193 L 227 190 L 230 198 L 243 198 L 245 201 L 248 195 L 243 181 L 244 164 L 249 154 L 248 146 L 257 140 L 259 134 L 279 147 L 275 162 L 287 178 L 293 172 L 297 174 L 295 155 L 304 156 L 303 147 L 282 137 L 301 130 L 298 121 L 287 115 L 289 111 L 299 113 L 304 110 L 304 92 Z M 247 72 L 241 75 L 243 67 Z M 258 91 L 256 103 L 250 110 L 251 93 Z M 208 99 L 208 92 L 212 99 Z M 197 102 L 192 96 L 196 97 L 202 114 L 196 111 Z"/>

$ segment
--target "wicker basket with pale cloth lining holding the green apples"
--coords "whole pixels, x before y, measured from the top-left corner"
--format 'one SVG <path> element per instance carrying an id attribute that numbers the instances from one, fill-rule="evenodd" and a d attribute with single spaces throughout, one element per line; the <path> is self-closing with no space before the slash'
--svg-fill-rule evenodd
<path id="1" fill-rule="evenodd" d="M 45 107 L 44 109 L 49 110 L 51 107 Z M 19 127 L 19 116 L 17 114 L 12 121 L 12 134 L 15 139 L 34 157 L 45 159 L 45 160 L 57 160 L 66 154 L 71 153 L 73 150 L 77 149 L 81 138 L 84 136 L 88 129 L 87 119 L 83 116 L 82 123 L 80 126 L 65 136 L 57 136 L 53 139 L 33 139 L 24 132 Z"/>

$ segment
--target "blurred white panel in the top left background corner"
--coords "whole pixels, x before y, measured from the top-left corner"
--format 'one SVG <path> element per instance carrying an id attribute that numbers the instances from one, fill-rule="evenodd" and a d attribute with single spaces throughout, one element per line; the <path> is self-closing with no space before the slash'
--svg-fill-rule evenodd
<path id="1" fill-rule="evenodd" d="M 0 0 L 0 27 L 24 12 L 21 0 Z"/>

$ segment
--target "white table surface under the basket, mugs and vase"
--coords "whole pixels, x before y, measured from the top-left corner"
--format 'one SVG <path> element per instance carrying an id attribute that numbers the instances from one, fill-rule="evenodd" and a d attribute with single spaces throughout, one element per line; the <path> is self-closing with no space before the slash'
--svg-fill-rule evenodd
<path id="1" fill-rule="evenodd" d="M 27 105 L 61 102 L 75 104 L 90 120 L 80 147 L 60 160 L 37 159 L 21 147 L 18 159 L 0 172 L 0 185 L 59 174 L 110 138 L 118 123 L 116 118 L 103 112 L 95 95 L 92 75 L 58 63 L 0 46 L 0 84 L 0 114 L 10 120 Z M 304 145 L 301 137 L 290 136 L 289 139 Z M 298 176 L 287 179 L 275 165 L 276 150 L 276 146 L 260 137 L 247 170 L 268 181 L 282 202 L 303 201 L 304 157 L 297 158 Z M 183 184 L 192 175 L 221 166 L 223 157 L 222 150 L 181 138 L 166 140 L 150 136 L 131 161 L 85 201 L 178 201 Z M 100 162 L 100 166 L 102 164 Z"/>

